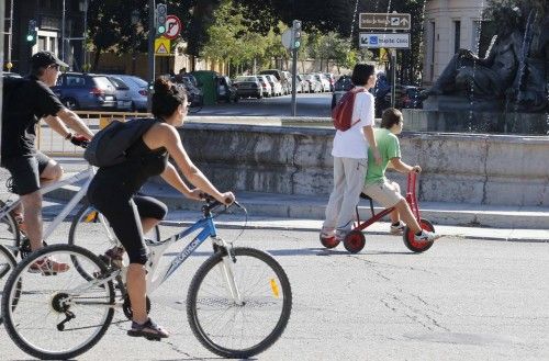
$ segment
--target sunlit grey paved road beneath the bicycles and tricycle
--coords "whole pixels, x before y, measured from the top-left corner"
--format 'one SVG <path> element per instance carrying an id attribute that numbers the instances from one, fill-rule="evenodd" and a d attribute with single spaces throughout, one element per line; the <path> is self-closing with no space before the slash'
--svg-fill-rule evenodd
<path id="1" fill-rule="evenodd" d="M 57 239 L 67 232 L 64 224 Z M 349 255 L 320 248 L 315 233 L 290 230 L 246 230 L 237 244 L 273 255 L 293 287 L 288 329 L 258 360 L 549 359 L 549 244 L 444 238 L 413 255 L 399 237 L 369 236 L 361 253 Z M 116 324 L 79 360 L 214 359 L 177 304 L 206 251 L 153 297 L 153 317 L 173 332 L 168 341 L 128 338 L 128 323 Z M 0 340 L 2 360 L 29 359 L 3 328 Z"/>

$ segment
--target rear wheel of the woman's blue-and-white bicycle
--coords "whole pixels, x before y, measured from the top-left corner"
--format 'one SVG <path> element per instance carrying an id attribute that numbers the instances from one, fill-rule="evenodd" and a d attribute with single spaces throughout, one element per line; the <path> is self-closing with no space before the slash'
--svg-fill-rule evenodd
<path id="1" fill-rule="evenodd" d="M 54 259 L 69 269 L 55 272 Z M 71 266 L 96 274 L 91 282 Z M 46 360 L 75 358 L 96 345 L 109 328 L 114 309 L 111 281 L 100 281 L 107 268 L 90 251 L 69 245 L 44 247 L 13 270 L 2 297 L 2 315 L 10 338 L 26 353 Z M 46 275 L 49 275 L 45 278 Z"/>

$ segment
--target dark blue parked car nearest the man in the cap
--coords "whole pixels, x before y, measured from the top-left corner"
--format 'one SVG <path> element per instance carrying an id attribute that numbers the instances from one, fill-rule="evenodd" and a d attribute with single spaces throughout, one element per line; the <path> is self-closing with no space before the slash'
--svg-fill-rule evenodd
<path id="1" fill-rule="evenodd" d="M 116 110 L 114 86 L 102 75 L 64 72 L 52 90 L 71 110 Z"/>

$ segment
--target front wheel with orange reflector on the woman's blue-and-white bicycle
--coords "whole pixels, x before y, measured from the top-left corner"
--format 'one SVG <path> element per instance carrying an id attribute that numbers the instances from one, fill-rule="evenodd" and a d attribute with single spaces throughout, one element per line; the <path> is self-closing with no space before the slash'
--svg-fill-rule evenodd
<path id="1" fill-rule="evenodd" d="M 290 319 L 292 291 L 284 270 L 268 253 L 253 248 L 234 248 L 233 252 L 236 261 L 216 252 L 197 271 L 187 315 L 206 349 L 244 359 L 265 351 L 282 335 Z"/>

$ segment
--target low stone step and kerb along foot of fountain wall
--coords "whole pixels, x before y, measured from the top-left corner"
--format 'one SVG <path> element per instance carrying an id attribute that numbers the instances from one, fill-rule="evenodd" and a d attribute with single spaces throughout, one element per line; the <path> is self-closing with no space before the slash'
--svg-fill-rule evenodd
<path id="1" fill-rule="evenodd" d="M 66 176 L 80 170 L 82 160 L 61 159 Z M 55 203 L 68 201 L 77 188 L 65 188 L 51 198 Z M 167 223 L 195 221 L 200 203 L 184 199 L 169 185 L 149 182 L 145 193 L 159 199 L 169 207 Z M 324 217 L 327 196 L 289 195 L 255 192 L 236 192 L 238 201 L 248 211 L 248 227 L 266 229 L 318 230 Z M 45 216 L 59 212 L 60 205 L 52 203 L 45 207 Z M 485 206 L 475 204 L 456 204 L 421 202 L 422 217 L 435 224 L 437 233 L 473 239 L 493 239 L 512 241 L 549 242 L 549 210 L 545 207 Z M 360 203 L 360 217 L 370 216 L 369 203 Z M 376 212 L 380 208 L 376 207 Z M 220 227 L 242 227 L 242 213 L 224 215 L 219 218 Z M 389 223 L 371 225 L 367 234 L 386 234 Z"/>

